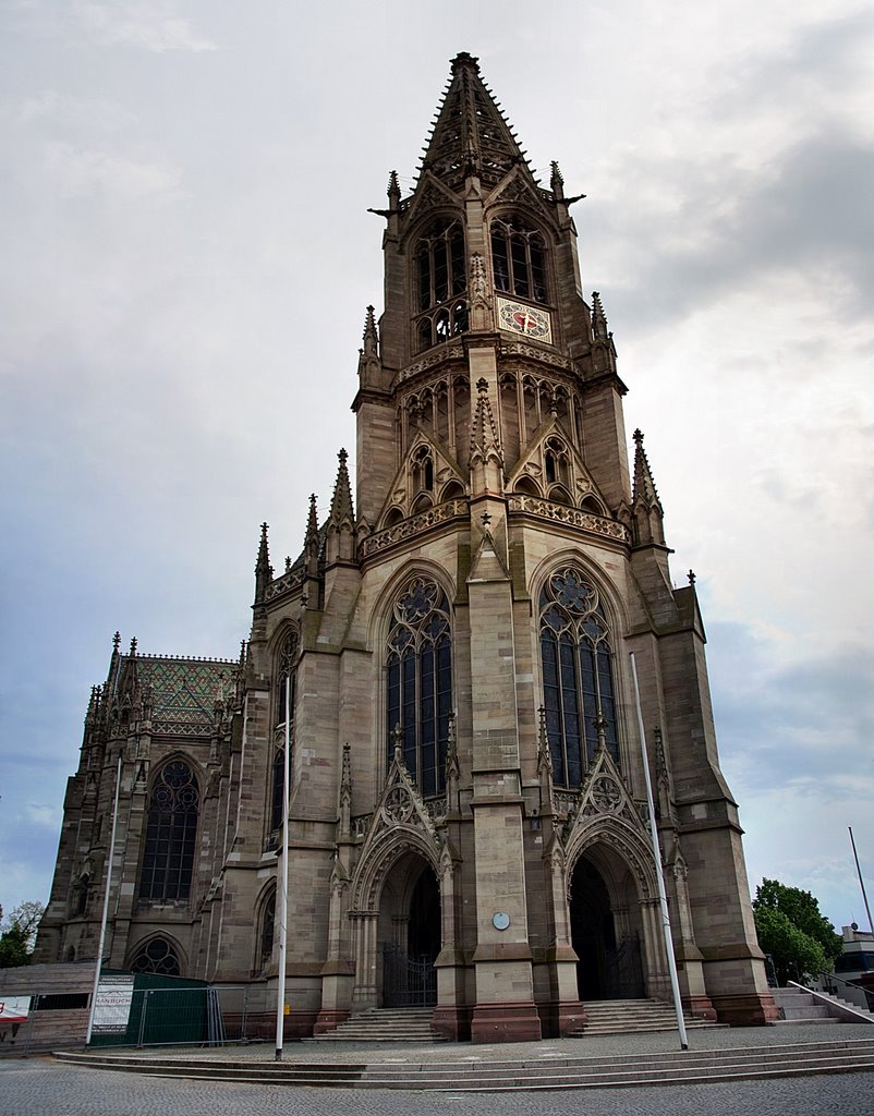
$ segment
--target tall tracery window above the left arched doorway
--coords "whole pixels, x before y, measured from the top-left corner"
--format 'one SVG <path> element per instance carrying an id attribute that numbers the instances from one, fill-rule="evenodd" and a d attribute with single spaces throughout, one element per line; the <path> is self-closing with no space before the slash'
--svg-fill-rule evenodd
<path id="1" fill-rule="evenodd" d="M 395 733 L 424 796 L 443 790 L 452 712 L 452 638 L 443 590 L 415 577 L 394 603 L 386 647 L 387 761 Z"/>

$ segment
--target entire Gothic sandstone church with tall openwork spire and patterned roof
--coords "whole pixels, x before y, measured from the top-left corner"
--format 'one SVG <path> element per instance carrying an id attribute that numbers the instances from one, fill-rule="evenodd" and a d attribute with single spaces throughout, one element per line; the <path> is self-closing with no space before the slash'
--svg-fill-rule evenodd
<path id="1" fill-rule="evenodd" d="M 684 1003 L 776 1017 L 694 581 L 640 432 L 630 462 L 577 200 L 459 55 L 378 211 L 355 498 L 340 452 L 278 574 L 262 527 L 239 660 L 116 637 L 35 960 L 96 956 L 121 758 L 111 965 L 275 990 L 288 741 L 288 1033 L 419 1003 L 451 1038 L 531 1039 L 669 998 L 633 653 Z"/>

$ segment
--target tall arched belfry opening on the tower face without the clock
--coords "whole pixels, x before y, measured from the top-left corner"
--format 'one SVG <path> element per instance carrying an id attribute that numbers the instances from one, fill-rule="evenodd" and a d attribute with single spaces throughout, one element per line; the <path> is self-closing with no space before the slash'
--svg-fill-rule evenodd
<path id="1" fill-rule="evenodd" d="M 440 218 L 424 233 L 415 251 L 415 283 L 421 315 L 416 319 L 416 347 L 431 348 L 468 328 L 468 304 L 459 298 L 468 289 L 464 232 L 459 221 Z"/>

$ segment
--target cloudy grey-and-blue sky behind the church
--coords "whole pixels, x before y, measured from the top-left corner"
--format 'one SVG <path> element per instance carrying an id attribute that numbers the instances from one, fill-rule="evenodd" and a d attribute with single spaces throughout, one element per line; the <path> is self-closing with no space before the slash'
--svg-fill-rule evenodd
<path id="1" fill-rule="evenodd" d="M 874 15 L 857 0 L 7 0 L 0 903 L 48 897 L 113 632 L 234 656 L 321 507 L 388 171 L 460 50 L 575 208 L 698 575 L 751 885 L 874 898 Z"/>

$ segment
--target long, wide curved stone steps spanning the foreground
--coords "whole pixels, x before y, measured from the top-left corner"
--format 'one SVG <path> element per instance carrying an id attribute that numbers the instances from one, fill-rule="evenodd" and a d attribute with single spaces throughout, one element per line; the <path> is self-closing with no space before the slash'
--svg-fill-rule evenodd
<path id="1" fill-rule="evenodd" d="M 442 1093 L 507 1093 L 693 1085 L 709 1081 L 799 1077 L 809 1074 L 874 1072 L 874 1039 L 636 1054 L 620 1057 L 531 1057 L 517 1061 L 492 1056 L 477 1061 L 441 1062 L 275 1062 L 161 1058 L 156 1055 L 56 1054 L 66 1064 L 93 1069 L 190 1080 L 358 1089 L 410 1089 Z"/>

